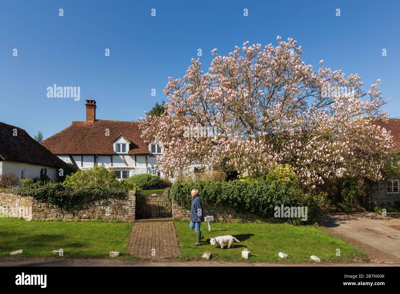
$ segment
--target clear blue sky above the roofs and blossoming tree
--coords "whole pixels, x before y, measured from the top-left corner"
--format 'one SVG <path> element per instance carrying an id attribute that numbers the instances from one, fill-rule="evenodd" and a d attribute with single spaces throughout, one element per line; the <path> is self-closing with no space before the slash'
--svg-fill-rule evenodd
<path id="1" fill-rule="evenodd" d="M 227 55 L 247 40 L 275 45 L 277 35 L 297 40 L 314 70 L 323 59 L 358 73 L 366 91 L 382 79 L 398 117 L 399 10 L 398 1 L 3 1 L 0 121 L 47 138 L 85 120 L 85 99 L 96 100 L 98 119 L 136 120 L 166 100 L 168 76 L 182 77 L 198 48 L 206 71 L 213 48 Z M 79 86 L 80 101 L 48 98 L 53 84 Z"/>

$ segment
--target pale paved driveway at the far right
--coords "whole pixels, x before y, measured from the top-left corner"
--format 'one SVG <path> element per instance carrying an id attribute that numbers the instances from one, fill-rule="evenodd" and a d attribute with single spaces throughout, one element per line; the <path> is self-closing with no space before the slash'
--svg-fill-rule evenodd
<path id="1" fill-rule="evenodd" d="M 392 216 L 373 213 L 332 214 L 325 219 L 324 226 L 400 258 L 400 230 L 393 225 Z"/>

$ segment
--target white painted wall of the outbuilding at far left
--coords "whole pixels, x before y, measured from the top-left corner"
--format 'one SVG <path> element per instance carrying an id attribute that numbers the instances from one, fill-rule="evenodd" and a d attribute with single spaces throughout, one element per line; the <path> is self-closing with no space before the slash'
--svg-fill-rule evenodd
<path id="1" fill-rule="evenodd" d="M 9 174 L 13 173 L 16 174 L 18 177 L 18 185 L 21 184 L 21 168 L 25 168 L 25 178 L 26 179 L 33 179 L 36 177 L 40 177 L 40 169 L 47 168 L 47 175 L 50 180 L 56 181 L 57 180 L 57 173 L 58 170 L 56 168 L 44 165 L 36 165 L 36 164 L 28 164 L 22 162 L 11 162 L 11 161 L 2 161 L 0 162 L 1 170 L 0 174 Z"/>

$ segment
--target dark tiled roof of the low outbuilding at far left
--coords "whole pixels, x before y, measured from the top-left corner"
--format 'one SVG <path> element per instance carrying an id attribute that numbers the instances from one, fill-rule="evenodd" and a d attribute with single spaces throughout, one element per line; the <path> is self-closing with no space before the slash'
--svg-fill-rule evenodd
<path id="1" fill-rule="evenodd" d="M 16 136 L 13 136 L 14 129 Z M 25 130 L 4 122 L 0 122 L 0 159 L 53 167 L 64 163 Z"/>

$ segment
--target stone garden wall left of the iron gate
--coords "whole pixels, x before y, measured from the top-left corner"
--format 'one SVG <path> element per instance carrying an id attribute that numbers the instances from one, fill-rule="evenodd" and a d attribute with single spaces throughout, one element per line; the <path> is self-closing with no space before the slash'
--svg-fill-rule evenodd
<path id="1" fill-rule="evenodd" d="M 85 196 L 73 208 L 61 210 L 32 197 L 0 193 L 0 216 L 26 220 L 135 220 L 136 191 L 112 198 Z"/>

